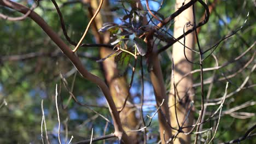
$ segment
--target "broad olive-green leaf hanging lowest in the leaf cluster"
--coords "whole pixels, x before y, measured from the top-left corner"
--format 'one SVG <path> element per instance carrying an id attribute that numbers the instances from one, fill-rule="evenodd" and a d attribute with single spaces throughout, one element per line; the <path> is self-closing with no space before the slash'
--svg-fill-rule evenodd
<path id="1" fill-rule="evenodd" d="M 127 52 L 121 52 L 119 55 L 115 56 L 115 62 L 117 63 L 117 69 L 120 75 L 123 75 L 127 70 L 131 57 L 132 56 Z"/>

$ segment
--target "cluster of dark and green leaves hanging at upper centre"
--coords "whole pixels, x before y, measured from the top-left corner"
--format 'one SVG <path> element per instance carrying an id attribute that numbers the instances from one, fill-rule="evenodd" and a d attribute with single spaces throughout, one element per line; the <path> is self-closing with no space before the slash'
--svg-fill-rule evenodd
<path id="1" fill-rule="evenodd" d="M 145 56 L 147 53 L 147 44 L 143 40 L 143 34 L 146 27 L 142 26 L 143 17 L 147 11 L 132 9 L 129 14 L 121 19 L 122 23 L 108 22 L 104 23 L 99 32 L 109 32 L 114 41 L 114 52 L 97 62 L 102 62 L 109 57 L 115 57 L 119 74 L 123 75 L 130 63 L 132 57 L 137 55 Z"/>

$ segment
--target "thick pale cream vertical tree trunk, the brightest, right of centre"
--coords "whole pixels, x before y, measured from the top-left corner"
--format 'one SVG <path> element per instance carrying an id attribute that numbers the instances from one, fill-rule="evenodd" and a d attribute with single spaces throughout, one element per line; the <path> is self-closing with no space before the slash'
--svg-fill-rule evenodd
<path id="1" fill-rule="evenodd" d="M 175 9 L 182 7 L 182 3 L 184 0 L 176 0 Z M 174 19 L 174 37 L 177 38 L 183 34 L 183 28 L 185 27 L 185 32 L 187 29 L 191 28 L 185 26 L 187 22 L 191 22 L 193 24 L 193 9 L 192 6 L 187 10 L 183 11 L 180 15 L 178 15 Z M 179 40 L 182 44 L 184 44 L 184 39 Z M 184 46 L 180 43 L 175 43 L 172 49 L 172 57 L 174 61 L 174 80 L 171 81 L 171 90 L 169 94 L 169 101 L 168 105 L 170 107 L 170 119 L 172 127 L 179 128 L 181 126 L 185 117 L 188 114 L 188 110 L 190 108 L 190 102 L 193 100 L 193 89 L 191 89 L 193 82 L 192 76 L 189 75 L 185 77 L 181 82 L 176 85 L 176 106 L 174 101 L 174 86 L 173 81 L 175 84 L 183 77 L 184 74 L 187 74 L 189 71 L 192 70 L 193 65 L 187 61 L 184 56 Z M 194 47 L 194 35 L 193 33 L 188 34 L 185 37 L 185 45 L 193 49 Z M 193 61 L 193 53 L 185 49 L 185 54 L 190 61 Z M 176 107 L 176 110 L 175 110 Z M 177 113 L 177 116 L 176 116 Z M 177 117 L 177 118 L 176 118 Z M 178 119 L 178 122 L 177 122 Z M 178 124 L 179 123 L 179 124 Z M 193 123 L 193 115 L 190 112 L 188 118 L 186 119 L 184 126 L 191 125 Z M 184 129 L 184 131 L 189 131 L 189 129 Z M 173 130 L 173 134 L 177 133 L 177 130 Z M 173 141 L 173 143 L 190 143 L 190 136 L 184 134 L 178 134 L 178 139 Z"/>

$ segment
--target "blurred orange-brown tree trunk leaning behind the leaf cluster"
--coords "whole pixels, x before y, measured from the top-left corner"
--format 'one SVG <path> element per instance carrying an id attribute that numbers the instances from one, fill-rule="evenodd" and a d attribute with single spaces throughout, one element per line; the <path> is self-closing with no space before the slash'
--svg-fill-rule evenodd
<path id="1" fill-rule="evenodd" d="M 86 0 L 85 0 L 86 1 Z M 90 1 L 91 8 L 96 11 L 99 2 L 98 1 Z M 109 14 L 108 14 L 109 13 Z M 103 22 L 112 22 L 113 18 L 110 16 L 110 10 L 109 10 L 109 2 L 104 1 L 101 13 L 97 15 L 95 22 L 93 23 L 92 31 L 95 35 L 95 39 L 97 43 L 100 44 L 108 44 L 109 43 L 109 34 L 103 34 L 103 37 L 101 37 L 98 33 L 98 29 L 102 27 Z M 89 11 L 90 14 L 90 11 Z M 90 17 L 92 17 L 94 13 L 90 14 Z M 106 47 L 100 47 L 100 57 L 104 58 L 108 56 L 113 51 Z M 104 75 L 106 77 L 106 81 L 108 83 L 110 93 L 113 97 L 113 100 L 115 102 L 115 106 L 120 109 L 120 107 L 123 106 L 124 100 L 129 94 L 129 86 L 127 85 L 126 79 L 124 76 L 120 77 L 118 76 L 118 70 L 116 67 L 116 64 L 114 62 L 114 58 L 110 57 L 107 58 L 105 61 L 103 61 L 103 70 Z M 132 103 L 131 99 L 128 99 L 129 102 Z M 127 107 L 129 104 L 126 104 L 126 107 L 123 109 L 123 111 L 120 112 L 120 119 L 121 123 L 123 125 L 123 129 L 125 131 L 135 129 L 138 121 L 135 116 L 135 111 L 132 110 L 132 107 Z M 130 137 L 130 139 L 137 143 L 137 133 L 127 133 L 127 135 Z"/>

